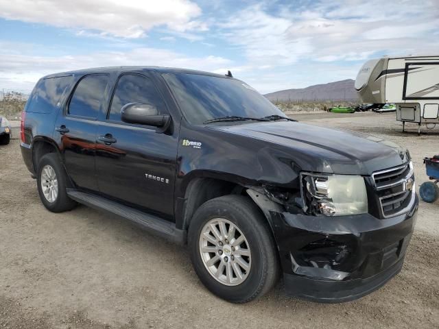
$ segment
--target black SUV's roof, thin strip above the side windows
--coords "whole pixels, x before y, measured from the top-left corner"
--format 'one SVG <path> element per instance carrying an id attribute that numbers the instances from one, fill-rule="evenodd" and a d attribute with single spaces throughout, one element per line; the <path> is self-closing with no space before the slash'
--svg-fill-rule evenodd
<path id="1" fill-rule="evenodd" d="M 174 67 L 161 67 L 161 66 L 108 66 L 108 67 L 95 67 L 91 69 L 81 69 L 75 71 L 67 71 L 60 73 L 53 73 L 43 77 L 44 79 L 50 77 L 60 77 L 63 75 L 85 75 L 91 73 L 113 73 L 113 72 L 146 72 L 155 71 L 158 73 L 187 73 L 187 74 L 198 74 L 198 75 L 211 75 L 213 77 L 228 77 L 227 75 L 216 74 L 211 72 L 189 70 L 189 69 L 178 69 Z M 226 73 L 226 72 L 225 72 Z"/>

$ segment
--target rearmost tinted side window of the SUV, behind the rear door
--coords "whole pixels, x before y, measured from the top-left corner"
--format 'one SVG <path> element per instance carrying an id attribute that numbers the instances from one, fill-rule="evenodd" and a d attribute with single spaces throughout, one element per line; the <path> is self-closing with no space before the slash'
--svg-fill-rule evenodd
<path id="1" fill-rule="evenodd" d="M 73 83 L 73 76 L 41 79 L 30 95 L 25 111 L 51 113 L 61 105 L 62 96 Z"/>

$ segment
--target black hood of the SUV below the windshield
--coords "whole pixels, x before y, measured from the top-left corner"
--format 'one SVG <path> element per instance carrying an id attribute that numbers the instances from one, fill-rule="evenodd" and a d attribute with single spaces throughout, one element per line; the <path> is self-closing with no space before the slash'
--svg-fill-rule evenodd
<path id="1" fill-rule="evenodd" d="M 304 171 L 370 175 L 404 164 L 410 157 L 406 148 L 391 141 L 299 122 L 257 122 L 210 128 L 268 142 L 272 149 L 282 149 L 283 154 L 289 154 L 292 164 Z M 266 147 L 261 152 L 276 154 Z"/>

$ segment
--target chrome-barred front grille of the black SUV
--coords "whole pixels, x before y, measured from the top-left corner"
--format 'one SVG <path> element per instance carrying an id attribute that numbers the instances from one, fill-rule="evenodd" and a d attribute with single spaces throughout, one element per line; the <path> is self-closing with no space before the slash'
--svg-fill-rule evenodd
<path id="1" fill-rule="evenodd" d="M 411 162 L 401 167 L 377 171 L 372 174 L 372 178 L 384 218 L 408 210 L 414 197 L 414 173 Z"/>

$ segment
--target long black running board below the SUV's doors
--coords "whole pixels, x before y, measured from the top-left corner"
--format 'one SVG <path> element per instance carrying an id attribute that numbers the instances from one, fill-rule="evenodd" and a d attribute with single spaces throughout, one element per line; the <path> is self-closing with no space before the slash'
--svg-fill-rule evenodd
<path id="1" fill-rule="evenodd" d="M 97 210 L 105 210 L 136 223 L 144 230 L 161 236 L 174 243 L 184 245 L 186 243 L 186 230 L 176 228 L 175 223 L 147 214 L 140 210 L 119 204 L 105 197 L 79 191 L 75 188 L 67 188 L 67 195 L 76 202 Z"/>

